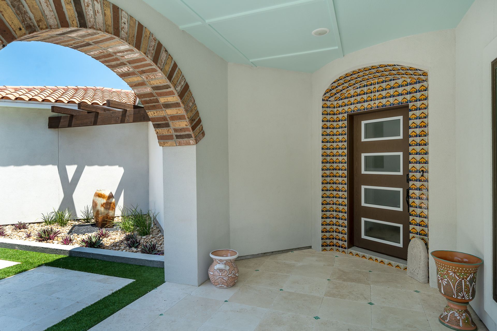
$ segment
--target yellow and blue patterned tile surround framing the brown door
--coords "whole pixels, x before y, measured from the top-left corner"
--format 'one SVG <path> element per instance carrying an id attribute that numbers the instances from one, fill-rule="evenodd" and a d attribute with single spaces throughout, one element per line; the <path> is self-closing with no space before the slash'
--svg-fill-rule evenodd
<path id="1" fill-rule="evenodd" d="M 407 265 L 350 250 L 347 215 L 347 114 L 391 106 L 409 108 L 409 232 L 428 245 L 428 72 L 379 64 L 336 78 L 322 100 L 321 247 L 381 264 Z"/>

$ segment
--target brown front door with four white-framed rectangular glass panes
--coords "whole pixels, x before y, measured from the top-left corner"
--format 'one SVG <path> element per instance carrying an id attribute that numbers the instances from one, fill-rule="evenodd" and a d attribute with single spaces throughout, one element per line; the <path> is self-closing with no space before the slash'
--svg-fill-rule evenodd
<path id="1" fill-rule="evenodd" d="M 408 115 L 407 107 L 354 114 L 349 136 L 353 245 L 404 260 L 409 244 Z"/>

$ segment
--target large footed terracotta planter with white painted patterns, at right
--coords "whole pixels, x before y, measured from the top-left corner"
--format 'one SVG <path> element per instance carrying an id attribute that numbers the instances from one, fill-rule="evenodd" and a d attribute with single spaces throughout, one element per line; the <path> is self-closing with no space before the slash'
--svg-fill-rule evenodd
<path id="1" fill-rule="evenodd" d="M 447 299 L 447 306 L 438 321 L 453 330 L 476 330 L 468 304 L 475 298 L 476 273 L 483 260 L 466 253 L 433 251 L 437 284 Z"/>

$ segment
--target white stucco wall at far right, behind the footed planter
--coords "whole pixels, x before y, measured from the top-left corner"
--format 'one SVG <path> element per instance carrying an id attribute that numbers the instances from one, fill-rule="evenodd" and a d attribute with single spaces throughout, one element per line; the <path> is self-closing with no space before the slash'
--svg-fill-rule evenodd
<path id="1" fill-rule="evenodd" d="M 497 58 L 497 3 L 475 0 L 456 28 L 457 250 L 483 258 L 471 305 L 497 330 L 492 298 L 491 62 Z"/>

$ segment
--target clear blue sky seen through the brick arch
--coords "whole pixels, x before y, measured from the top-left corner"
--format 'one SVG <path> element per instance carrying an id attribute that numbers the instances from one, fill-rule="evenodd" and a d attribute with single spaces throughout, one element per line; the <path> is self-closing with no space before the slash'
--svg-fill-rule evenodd
<path id="1" fill-rule="evenodd" d="M 0 51 L 0 86 L 103 86 L 131 88 L 90 56 L 38 41 L 15 41 Z"/>

